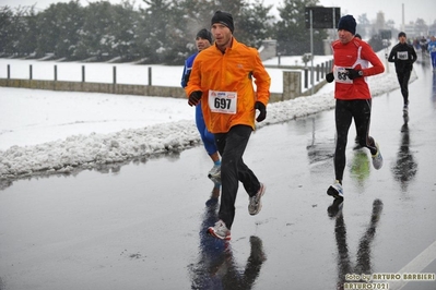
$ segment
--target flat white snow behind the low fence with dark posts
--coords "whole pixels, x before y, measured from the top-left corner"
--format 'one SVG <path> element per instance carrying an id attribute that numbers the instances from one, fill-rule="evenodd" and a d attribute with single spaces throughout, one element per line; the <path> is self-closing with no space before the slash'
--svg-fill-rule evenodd
<path id="1" fill-rule="evenodd" d="M 314 58 L 314 67 L 326 63 L 332 59 L 331 56 L 316 56 Z M 282 57 L 280 60 L 282 65 L 301 65 L 305 63 L 301 56 Z M 264 64 L 278 65 L 278 58 L 270 59 Z M 81 62 L 56 62 L 56 61 L 38 61 L 38 60 L 13 60 L 0 59 L 0 78 L 8 77 L 8 65 L 11 78 L 30 80 L 31 65 L 32 78 L 40 81 L 55 80 L 55 65 L 58 81 L 82 82 L 82 69 L 85 71 L 85 82 L 89 83 L 106 83 L 114 82 L 114 68 L 116 68 L 116 77 L 118 84 L 128 85 L 149 85 L 149 69 L 151 71 L 152 85 L 156 86 L 179 86 L 182 67 L 181 65 L 135 65 L 132 63 L 81 63 Z M 310 62 L 307 63 L 310 65 Z M 273 76 L 271 80 L 271 92 L 283 92 L 282 69 L 267 69 Z M 310 78 L 310 74 L 309 74 Z M 310 81 L 309 81 L 310 83 Z M 302 77 L 302 87 L 304 80 Z"/>

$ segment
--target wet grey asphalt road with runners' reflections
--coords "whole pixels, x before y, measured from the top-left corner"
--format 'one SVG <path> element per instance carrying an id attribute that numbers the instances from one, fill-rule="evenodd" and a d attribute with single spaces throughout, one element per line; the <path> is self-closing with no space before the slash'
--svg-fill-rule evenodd
<path id="1" fill-rule="evenodd" d="M 362 274 L 434 279 L 436 74 L 415 70 L 409 122 L 399 89 L 373 101 L 380 170 L 366 149 L 353 149 L 352 124 L 342 209 L 326 194 L 333 111 L 252 134 L 245 161 L 267 185 L 263 207 L 249 216 L 239 188 L 228 243 L 204 234 L 219 192 L 201 146 L 14 181 L 0 191 L 0 289 L 337 289 Z M 436 289 L 435 280 L 376 282 Z"/>

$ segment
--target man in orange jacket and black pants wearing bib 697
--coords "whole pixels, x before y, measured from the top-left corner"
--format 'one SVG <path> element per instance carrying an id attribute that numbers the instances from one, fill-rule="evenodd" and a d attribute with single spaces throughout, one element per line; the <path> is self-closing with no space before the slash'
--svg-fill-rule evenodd
<path id="1" fill-rule="evenodd" d="M 220 220 L 208 231 L 229 240 L 239 181 L 249 196 L 248 213 L 257 215 L 262 206 L 266 186 L 244 164 L 243 155 L 255 130 L 256 110 L 260 111 L 256 121 L 267 118 L 271 78 L 259 52 L 233 36 L 232 14 L 216 11 L 211 26 L 215 44 L 197 56 L 185 90 L 190 106 L 202 100 L 205 125 L 214 134 L 222 156 Z"/>

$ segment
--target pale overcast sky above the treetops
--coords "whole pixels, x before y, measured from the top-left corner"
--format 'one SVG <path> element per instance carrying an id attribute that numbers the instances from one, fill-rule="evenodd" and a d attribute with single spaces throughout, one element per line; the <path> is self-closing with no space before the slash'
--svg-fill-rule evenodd
<path id="1" fill-rule="evenodd" d="M 80 0 L 82 5 L 89 2 L 98 2 L 99 0 Z M 121 0 L 109 0 L 111 3 L 121 3 Z M 50 3 L 69 2 L 69 0 L 0 0 L 0 5 L 16 8 L 19 5 L 33 5 L 45 10 Z M 282 0 L 263 0 L 266 4 L 281 7 Z M 144 7 L 144 2 L 139 0 L 135 3 Z M 402 4 L 404 4 L 404 23 L 415 22 L 416 19 L 423 19 L 427 24 L 433 24 L 436 20 L 435 0 L 319 0 L 323 7 L 340 7 L 342 14 L 353 14 L 356 16 L 366 13 L 369 21 L 377 16 L 377 12 L 385 13 L 385 20 L 393 20 L 396 27 L 400 28 L 402 24 Z M 276 13 L 276 10 L 275 10 Z"/>

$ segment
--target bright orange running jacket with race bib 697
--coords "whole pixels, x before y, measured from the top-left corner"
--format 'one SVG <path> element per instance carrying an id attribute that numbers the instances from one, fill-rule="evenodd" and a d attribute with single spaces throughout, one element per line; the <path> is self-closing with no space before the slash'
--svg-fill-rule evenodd
<path id="1" fill-rule="evenodd" d="M 202 92 L 200 104 L 208 130 L 226 133 L 237 124 L 255 130 L 255 102 L 259 100 L 267 106 L 270 85 L 270 75 L 258 50 L 233 38 L 225 53 L 213 45 L 197 56 L 185 90 L 188 97 L 192 92 Z M 226 97 L 221 98 L 223 95 Z M 233 109 L 227 108 L 227 104 L 234 104 Z"/>

